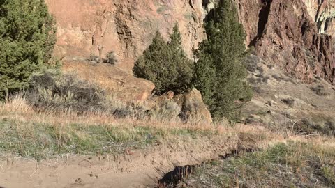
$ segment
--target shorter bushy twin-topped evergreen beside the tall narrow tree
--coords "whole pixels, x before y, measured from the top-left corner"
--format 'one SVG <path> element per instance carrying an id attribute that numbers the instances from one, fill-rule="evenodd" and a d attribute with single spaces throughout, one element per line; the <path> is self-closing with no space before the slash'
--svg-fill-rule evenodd
<path id="1" fill-rule="evenodd" d="M 178 24 L 174 26 L 168 43 L 157 31 L 151 45 L 136 61 L 133 72 L 136 77 L 154 82 L 156 93 L 184 93 L 190 88 L 193 63 L 182 48 Z"/>

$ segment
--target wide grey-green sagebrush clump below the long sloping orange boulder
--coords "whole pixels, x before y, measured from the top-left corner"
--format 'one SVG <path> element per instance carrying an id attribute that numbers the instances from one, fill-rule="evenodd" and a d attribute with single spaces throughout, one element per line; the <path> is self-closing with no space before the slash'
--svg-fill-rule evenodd
<path id="1" fill-rule="evenodd" d="M 73 74 L 47 70 L 31 76 L 28 101 L 38 109 L 78 112 L 103 109 L 103 91 Z"/>

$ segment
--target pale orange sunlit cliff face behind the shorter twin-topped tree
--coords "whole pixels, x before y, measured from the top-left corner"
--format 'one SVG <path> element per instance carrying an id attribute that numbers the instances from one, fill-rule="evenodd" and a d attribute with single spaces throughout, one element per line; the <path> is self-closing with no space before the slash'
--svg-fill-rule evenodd
<path id="1" fill-rule="evenodd" d="M 57 20 L 57 56 L 101 57 L 116 52 L 134 60 L 157 30 L 168 39 L 175 22 L 191 56 L 204 37 L 201 0 L 46 0 Z"/>

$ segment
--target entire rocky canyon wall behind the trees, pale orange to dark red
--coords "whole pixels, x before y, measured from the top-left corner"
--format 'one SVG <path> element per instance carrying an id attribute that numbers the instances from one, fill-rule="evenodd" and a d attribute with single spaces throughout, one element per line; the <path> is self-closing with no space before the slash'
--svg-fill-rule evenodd
<path id="1" fill-rule="evenodd" d="M 57 56 L 104 57 L 114 51 L 131 62 L 157 30 L 168 40 L 175 22 L 189 56 L 205 38 L 203 20 L 215 0 L 46 0 L 57 20 Z M 233 0 L 246 45 L 283 71 L 334 84 L 335 0 Z M 129 67 L 131 67 L 131 65 Z"/>

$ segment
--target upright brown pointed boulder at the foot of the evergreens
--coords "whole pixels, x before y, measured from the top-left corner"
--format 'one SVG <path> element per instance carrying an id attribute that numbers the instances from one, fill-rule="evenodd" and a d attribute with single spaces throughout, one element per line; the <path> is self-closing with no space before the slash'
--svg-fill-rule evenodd
<path id="1" fill-rule="evenodd" d="M 211 113 L 202 100 L 200 91 L 193 89 L 188 93 L 176 95 L 172 99 L 181 106 L 181 113 L 179 114 L 181 120 L 191 122 L 193 120 L 202 121 L 204 123 L 212 123 Z"/>

